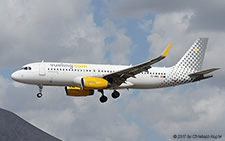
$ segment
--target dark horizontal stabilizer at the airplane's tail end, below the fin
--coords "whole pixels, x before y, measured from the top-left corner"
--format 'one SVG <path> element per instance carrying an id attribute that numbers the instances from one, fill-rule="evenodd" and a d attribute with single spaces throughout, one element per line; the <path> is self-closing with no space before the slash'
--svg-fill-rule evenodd
<path id="1" fill-rule="evenodd" d="M 213 77 L 213 75 L 205 75 L 205 74 L 208 74 L 210 72 L 216 71 L 218 69 L 219 68 L 212 68 L 212 69 L 208 69 L 208 70 L 204 70 L 204 71 L 200 71 L 200 72 L 189 74 L 189 76 L 191 78 L 193 78 L 193 82 L 200 81 L 202 79 L 207 79 L 207 78 Z"/>

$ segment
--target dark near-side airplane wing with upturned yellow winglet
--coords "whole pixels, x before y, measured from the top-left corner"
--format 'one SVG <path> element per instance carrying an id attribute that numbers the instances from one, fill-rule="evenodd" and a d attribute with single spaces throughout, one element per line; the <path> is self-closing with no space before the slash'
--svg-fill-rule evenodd
<path id="1" fill-rule="evenodd" d="M 155 64 L 155 63 L 161 61 L 162 59 L 164 59 L 167 56 L 171 45 L 172 45 L 172 43 L 166 48 L 166 50 L 163 52 L 162 55 L 160 55 L 159 57 L 157 57 L 155 59 L 132 66 L 132 67 L 124 69 L 124 70 L 120 70 L 120 71 L 117 71 L 114 73 L 107 74 L 103 78 L 105 78 L 108 81 L 115 82 L 116 85 L 120 85 L 120 84 L 124 83 L 130 77 L 135 78 L 136 74 L 139 74 L 143 71 L 147 71 L 148 69 L 151 68 L 152 64 Z"/>

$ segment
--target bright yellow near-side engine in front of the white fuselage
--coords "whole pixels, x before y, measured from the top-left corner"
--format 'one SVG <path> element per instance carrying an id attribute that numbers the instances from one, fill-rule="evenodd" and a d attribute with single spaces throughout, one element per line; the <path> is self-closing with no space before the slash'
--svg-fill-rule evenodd
<path id="1" fill-rule="evenodd" d="M 107 80 L 98 77 L 83 77 L 81 84 L 84 89 L 105 89 L 110 87 Z"/>

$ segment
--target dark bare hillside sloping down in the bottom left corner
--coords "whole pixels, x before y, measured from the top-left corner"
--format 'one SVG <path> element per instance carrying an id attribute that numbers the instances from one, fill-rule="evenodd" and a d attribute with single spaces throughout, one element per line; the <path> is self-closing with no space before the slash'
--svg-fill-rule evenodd
<path id="1" fill-rule="evenodd" d="M 1 141 L 59 141 L 16 114 L 0 108 Z"/>

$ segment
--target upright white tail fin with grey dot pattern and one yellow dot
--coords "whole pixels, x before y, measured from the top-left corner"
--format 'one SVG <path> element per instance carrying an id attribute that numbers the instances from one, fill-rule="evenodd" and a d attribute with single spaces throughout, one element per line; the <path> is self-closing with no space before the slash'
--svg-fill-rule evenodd
<path id="1" fill-rule="evenodd" d="M 175 65 L 175 68 L 188 69 L 189 72 L 200 71 L 205 56 L 205 50 L 208 43 L 208 38 L 197 39 L 180 61 Z"/>

